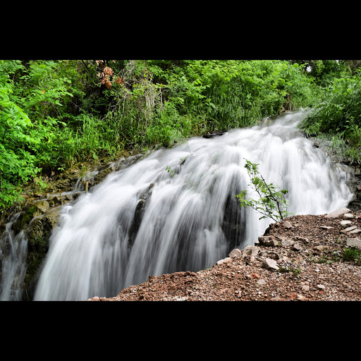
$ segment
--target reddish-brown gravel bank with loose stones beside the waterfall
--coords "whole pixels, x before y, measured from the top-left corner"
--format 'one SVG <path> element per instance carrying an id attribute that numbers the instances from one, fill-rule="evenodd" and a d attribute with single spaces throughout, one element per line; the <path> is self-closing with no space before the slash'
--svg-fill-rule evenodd
<path id="1" fill-rule="evenodd" d="M 361 212 L 339 209 L 271 224 L 210 269 L 149 276 L 113 298 L 90 301 L 361 300 Z"/>

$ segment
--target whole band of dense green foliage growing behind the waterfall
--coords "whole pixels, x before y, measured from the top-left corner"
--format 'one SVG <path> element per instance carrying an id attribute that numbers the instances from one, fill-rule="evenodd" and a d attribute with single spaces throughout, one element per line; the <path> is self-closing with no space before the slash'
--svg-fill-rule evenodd
<path id="1" fill-rule="evenodd" d="M 49 170 L 116 157 L 122 149 L 171 147 L 193 135 L 253 126 L 264 116 L 317 104 L 321 95 L 305 130 L 334 130 L 354 145 L 350 157 L 360 159 L 356 66 L 357 61 L 0 61 L 0 209 Z"/>

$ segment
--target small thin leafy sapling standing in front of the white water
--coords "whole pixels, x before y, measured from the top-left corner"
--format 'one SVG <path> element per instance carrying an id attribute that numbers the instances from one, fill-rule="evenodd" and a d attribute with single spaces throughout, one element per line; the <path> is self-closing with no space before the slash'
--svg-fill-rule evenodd
<path id="1" fill-rule="evenodd" d="M 287 212 L 288 202 L 285 195 L 288 190 L 283 189 L 279 191 L 279 187 L 273 183 L 267 184 L 264 178 L 258 171 L 259 164 L 253 164 L 251 161 L 245 159 L 245 169 L 250 176 L 250 186 L 257 192 L 258 199 L 247 199 L 247 190 L 242 190 L 235 197 L 240 202 L 240 207 L 251 207 L 258 213 L 262 214 L 259 219 L 270 218 L 274 221 L 283 220 L 283 218 L 290 216 Z"/>

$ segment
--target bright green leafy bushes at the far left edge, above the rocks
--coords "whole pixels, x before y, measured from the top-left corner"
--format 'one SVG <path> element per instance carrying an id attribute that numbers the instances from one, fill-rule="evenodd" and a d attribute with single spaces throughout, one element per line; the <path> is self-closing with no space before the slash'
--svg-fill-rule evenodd
<path id="1" fill-rule="evenodd" d="M 73 97 L 63 63 L 0 61 L 0 209 L 20 200 L 21 185 L 43 166 L 56 164 L 62 107 Z"/>

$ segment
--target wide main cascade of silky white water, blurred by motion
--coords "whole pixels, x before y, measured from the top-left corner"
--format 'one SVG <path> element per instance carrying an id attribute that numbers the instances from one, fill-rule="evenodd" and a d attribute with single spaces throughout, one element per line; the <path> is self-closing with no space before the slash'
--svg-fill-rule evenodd
<path id="1" fill-rule="evenodd" d="M 193 137 L 109 174 L 63 207 L 34 299 L 111 297 L 149 275 L 199 271 L 253 244 L 271 220 L 259 221 L 235 198 L 250 183 L 245 159 L 267 183 L 288 189 L 288 212 L 345 207 L 353 197 L 348 173 L 295 128 L 302 116 Z"/>

